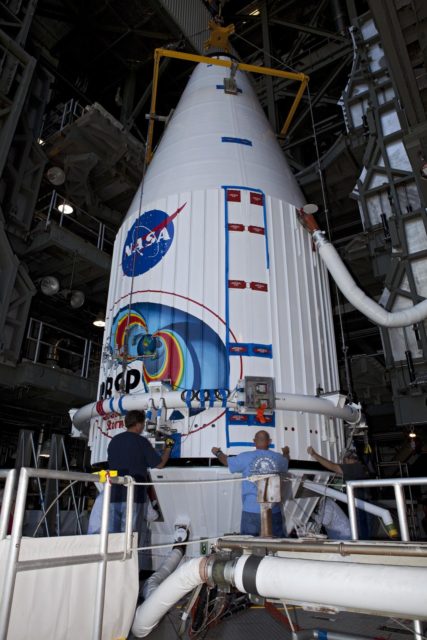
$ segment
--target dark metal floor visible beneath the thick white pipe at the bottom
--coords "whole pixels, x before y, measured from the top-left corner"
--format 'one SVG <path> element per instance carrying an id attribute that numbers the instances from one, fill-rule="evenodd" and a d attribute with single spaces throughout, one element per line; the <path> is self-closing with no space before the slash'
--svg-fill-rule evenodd
<path id="1" fill-rule="evenodd" d="M 329 631 L 357 634 L 374 640 L 408 640 L 413 638 L 412 622 L 399 620 L 408 627 L 403 628 L 391 618 L 380 618 L 358 613 L 319 613 L 303 611 L 298 607 L 288 608 L 294 624 L 302 629 L 326 629 Z M 283 609 L 280 609 L 284 613 Z M 171 611 L 149 636 L 150 640 L 182 640 L 178 636 L 180 609 Z M 187 638 L 188 636 L 184 636 Z M 287 625 L 271 617 L 264 607 L 252 607 L 237 613 L 217 627 L 211 629 L 204 640 L 291 640 Z M 132 640 L 130 635 L 128 640 Z"/>

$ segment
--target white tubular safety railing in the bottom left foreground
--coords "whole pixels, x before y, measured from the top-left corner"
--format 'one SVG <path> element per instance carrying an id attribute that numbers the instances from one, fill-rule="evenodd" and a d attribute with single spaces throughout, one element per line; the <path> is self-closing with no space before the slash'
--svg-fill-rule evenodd
<path id="1" fill-rule="evenodd" d="M 6 537 L 7 523 L 12 512 L 12 499 L 16 484 L 16 471 L 0 471 L 0 479 L 6 478 L 3 504 L 0 517 L 0 540 Z M 134 503 L 134 484 L 130 477 L 112 478 L 105 483 L 102 505 L 101 530 L 99 534 L 98 553 L 80 556 L 63 556 L 55 558 L 37 558 L 36 560 L 20 560 L 22 528 L 27 501 L 29 481 L 31 478 L 47 480 L 63 480 L 69 482 L 97 482 L 97 475 L 90 473 L 75 473 L 70 471 L 50 471 L 46 469 L 31 469 L 23 467 L 19 475 L 16 493 L 13 526 L 10 537 L 9 555 L 3 582 L 3 593 L 0 603 L 0 640 L 8 636 L 9 621 L 12 610 L 13 594 L 18 572 L 29 570 L 43 570 L 52 567 L 65 567 L 88 563 L 98 563 L 92 640 L 102 638 L 102 619 L 104 614 L 107 563 L 112 560 L 124 560 L 132 553 L 132 516 Z M 111 500 L 111 483 L 123 484 L 127 487 L 126 525 L 123 551 L 108 552 L 109 510 Z"/>

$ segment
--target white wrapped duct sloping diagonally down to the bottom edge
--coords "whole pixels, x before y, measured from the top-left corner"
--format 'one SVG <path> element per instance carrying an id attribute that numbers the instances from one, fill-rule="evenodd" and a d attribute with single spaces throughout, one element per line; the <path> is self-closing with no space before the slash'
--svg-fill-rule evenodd
<path id="1" fill-rule="evenodd" d="M 169 609 L 204 582 L 201 576 L 205 562 L 205 557 L 193 558 L 181 565 L 137 608 L 132 625 L 132 633 L 136 638 L 148 636 Z"/>

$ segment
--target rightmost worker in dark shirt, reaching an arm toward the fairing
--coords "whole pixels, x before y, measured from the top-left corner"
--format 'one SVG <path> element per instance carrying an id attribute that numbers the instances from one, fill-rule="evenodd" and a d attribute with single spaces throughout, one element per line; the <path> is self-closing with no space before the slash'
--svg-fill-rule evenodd
<path id="1" fill-rule="evenodd" d="M 359 460 L 359 457 L 355 451 L 346 451 L 342 462 L 332 462 L 321 456 L 313 447 L 308 447 L 307 453 L 317 460 L 322 467 L 332 471 L 338 476 L 342 476 L 344 482 L 349 480 L 369 480 L 369 472 L 364 464 Z M 370 500 L 369 490 L 356 489 L 354 493 L 356 498 L 360 500 Z M 356 509 L 357 516 L 357 531 L 360 540 L 368 540 L 371 530 L 371 517 L 370 514 L 362 509 Z"/>

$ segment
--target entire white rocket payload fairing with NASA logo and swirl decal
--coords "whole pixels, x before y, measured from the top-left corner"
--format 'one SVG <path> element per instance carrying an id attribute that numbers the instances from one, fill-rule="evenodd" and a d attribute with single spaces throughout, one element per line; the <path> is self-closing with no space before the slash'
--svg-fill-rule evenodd
<path id="1" fill-rule="evenodd" d="M 248 77 L 238 71 L 230 94 L 226 74 L 196 67 L 117 235 L 92 462 L 123 428 L 126 398 L 153 383 L 185 403 L 167 416 L 175 456 L 239 453 L 260 428 L 294 458 L 309 444 L 333 458 L 342 448 L 335 419 L 221 406 L 246 376 L 310 396 L 339 386 L 327 272 L 296 215 L 303 196 Z M 155 420 L 162 408 L 147 406 Z"/>

